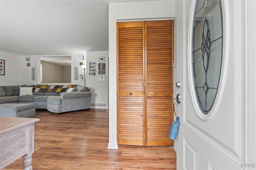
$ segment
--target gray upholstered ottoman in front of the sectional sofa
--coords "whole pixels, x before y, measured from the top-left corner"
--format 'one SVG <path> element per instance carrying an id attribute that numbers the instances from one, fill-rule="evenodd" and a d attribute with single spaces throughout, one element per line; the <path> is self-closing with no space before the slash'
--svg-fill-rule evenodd
<path id="1" fill-rule="evenodd" d="M 34 103 L 0 104 L 0 117 L 32 117 L 36 115 Z"/>

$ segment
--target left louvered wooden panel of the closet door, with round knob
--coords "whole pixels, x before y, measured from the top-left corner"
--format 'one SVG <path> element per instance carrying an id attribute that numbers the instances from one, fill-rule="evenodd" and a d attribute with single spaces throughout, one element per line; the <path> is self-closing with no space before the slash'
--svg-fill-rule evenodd
<path id="1" fill-rule="evenodd" d="M 144 146 L 143 22 L 118 23 L 118 144 Z"/>

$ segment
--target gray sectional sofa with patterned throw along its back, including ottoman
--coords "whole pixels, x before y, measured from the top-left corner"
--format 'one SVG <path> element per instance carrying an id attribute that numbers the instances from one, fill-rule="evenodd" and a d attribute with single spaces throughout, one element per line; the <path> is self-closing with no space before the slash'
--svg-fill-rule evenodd
<path id="1" fill-rule="evenodd" d="M 20 90 L 32 88 L 29 95 Z M 68 92 L 71 89 L 71 92 Z M 35 109 L 64 113 L 90 109 L 90 89 L 81 85 L 0 86 L 0 116 L 31 117 Z"/>

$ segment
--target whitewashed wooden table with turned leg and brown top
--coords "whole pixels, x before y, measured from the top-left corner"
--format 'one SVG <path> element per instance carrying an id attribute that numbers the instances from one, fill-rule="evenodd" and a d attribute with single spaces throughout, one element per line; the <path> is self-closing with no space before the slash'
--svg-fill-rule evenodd
<path id="1" fill-rule="evenodd" d="M 37 118 L 0 117 L 0 169 L 24 156 L 24 170 L 32 170 L 37 121 Z"/>

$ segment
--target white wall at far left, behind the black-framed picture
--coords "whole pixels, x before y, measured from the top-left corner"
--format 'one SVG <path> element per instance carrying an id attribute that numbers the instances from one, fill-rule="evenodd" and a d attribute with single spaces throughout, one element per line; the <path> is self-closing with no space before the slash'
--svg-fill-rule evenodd
<path id="1" fill-rule="evenodd" d="M 21 85 L 20 56 L 0 51 L 0 59 L 5 60 L 5 75 L 0 75 L 0 85 Z"/>

